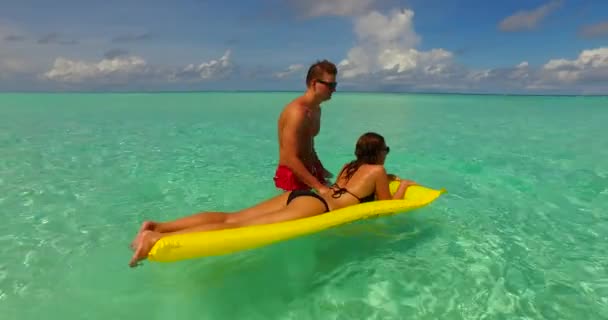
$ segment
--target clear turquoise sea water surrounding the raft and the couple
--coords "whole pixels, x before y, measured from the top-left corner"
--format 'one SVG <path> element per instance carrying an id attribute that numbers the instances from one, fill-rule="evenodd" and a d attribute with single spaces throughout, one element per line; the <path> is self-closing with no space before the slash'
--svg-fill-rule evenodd
<path id="1" fill-rule="evenodd" d="M 336 93 L 336 172 L 377 131 L 428 207 L 127 266 L 143 219 L 277 194 L 297 93 L 0 95 L 2 319 L 608 319 L 608 98 Z"/>

